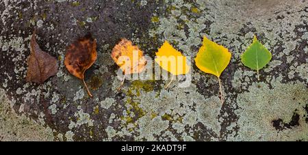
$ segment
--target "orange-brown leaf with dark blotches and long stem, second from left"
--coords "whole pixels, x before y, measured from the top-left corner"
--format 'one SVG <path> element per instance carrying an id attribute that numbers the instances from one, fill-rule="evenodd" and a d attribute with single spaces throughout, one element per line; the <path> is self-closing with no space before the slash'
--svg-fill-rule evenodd
<path id="1" fill-rule="evenodd" d="M 86 82 L 84 81 L 84 73 L 97 60 L 97 40 L 89 34 L 80 38 L 66 49 L 64 64 L 70 74 L 84 82 L 84 86 L 88 91 L 88 95 L 92 97 Z"/>

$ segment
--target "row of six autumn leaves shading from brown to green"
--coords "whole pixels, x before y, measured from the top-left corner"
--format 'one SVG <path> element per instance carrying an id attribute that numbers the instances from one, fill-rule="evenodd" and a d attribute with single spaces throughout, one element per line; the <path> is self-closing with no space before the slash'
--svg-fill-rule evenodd
<path id="1" fill-rule="evenodd" d="M 49 77 L 55 75 L 58 70 L 57 60 L 46 52 L 42 51 L 36 42 L 36 33 L 34 32 L 31 38 L 31 54 L 27 60 L 27 81 L 35 83 L 44 83 Z M 138 52 L 138 63 L 133 61 L 125 61 L 121 57 L 128 57 L 129 60 L 133 59 L 133 52 Z M 179 51 L 173 48 L 167 41 L 164 42 L 161 48 L 156 53 L 157 58 L 155 61 L 164 70 L 167 70 L 174 76 L 179 74 L 188 74 L 190 66 L 186 62 L 186 57 Z M 122 39 L 116 46 L 114 46 L 112 53 L 112 59 L 120 67 L 121 70 L 127 74 L 143 72 L 146 66 L 146 59 L 143 52 L 138 46 L 127 39 Z M 175 57 L 175 59 L 168 59 L 168 57 Z M 135 58 L 136 59 L 136 58 Z M 203 46 L 199 49 L 195 63 L 196 66 L 205 73 L 214 74 L 218 77 L 220 85 L 220 99 L 222 102 L 222 85 L 220 81 L 220 75 L 225 68 L 229 65 L 231 59 L 231 53 L 227 48 L 212 42 L 208 38 L 204 37 Z M 253 39 L 253 44 L 247 48 L 242 54 L 242 63 L 244 66 L 257 71 L 257 77 L 259 80 L 259 70 L 264 68 L 266 64 L 272 59 L 272 54 L 266 49 L 258 40 L 257 37 Z M 97 60 L 97 40 L 92 38 L 91 35 L 79 38 L 73 44 L 70 44 L 66 48 L 66 55 L 64 64 L 70 74 L 73 74 L 78 79 L 83 81 L 88 95 L 92 97 L 86 82 L 84 81 L 84 73 L 90 68 Z M 179 70 L 181 69 L 181 70 Z M 172 79 L 170 83 L 172 82 Z M 125 77 L 120 85 L 123 85 Z M 168 85 L 170 85 L 168 83 Z M 166 85 L 166 87 L 168 87 Z M 119 88 L 120 89 L 120 88 Z"/>

